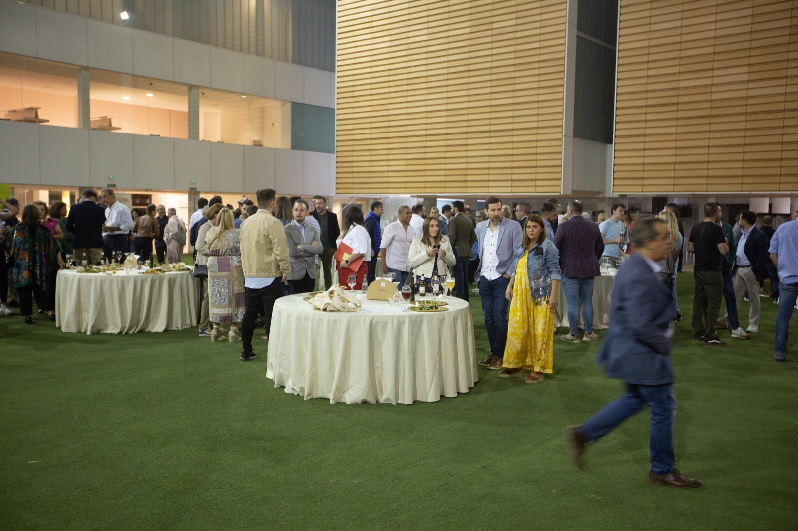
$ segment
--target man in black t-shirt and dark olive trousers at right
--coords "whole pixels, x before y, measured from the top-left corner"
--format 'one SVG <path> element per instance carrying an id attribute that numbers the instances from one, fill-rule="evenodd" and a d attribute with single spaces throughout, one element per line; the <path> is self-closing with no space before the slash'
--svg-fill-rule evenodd
<path id="1" fill-rule="evenodd" d="M 693 296 L 693 336 L 706 344 L 725 345 L 715 333 L 715 321 L 721 312 L 723 297 L 723 257 L 729 243 L 717 225 L 721 210 L 717 203 L 704 205 L 704 221 L 693 226 L 687 249 L 696 256 L 693 276 L 696 293 Z"/>

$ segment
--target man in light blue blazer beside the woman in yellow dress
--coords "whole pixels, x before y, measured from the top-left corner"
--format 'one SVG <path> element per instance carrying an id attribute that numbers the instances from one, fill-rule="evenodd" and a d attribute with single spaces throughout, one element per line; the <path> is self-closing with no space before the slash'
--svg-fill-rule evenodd
<path id="1" fill-rule="evenodd" d="M 476 241 L 480 246 L 480 264 L 476 279 L 480 288 L 482 312 L 491 352 L 480 361 L 483 367 L 499 370 L 504 363 L 507 343 L 507 312 L 510 304 L 504 297 L 510 283 L 510 267 L 516 248 L 521 245 L 521 226 L 501 213 L 501 199 L 485 199 L 487 221 L 476 225 Z"/>

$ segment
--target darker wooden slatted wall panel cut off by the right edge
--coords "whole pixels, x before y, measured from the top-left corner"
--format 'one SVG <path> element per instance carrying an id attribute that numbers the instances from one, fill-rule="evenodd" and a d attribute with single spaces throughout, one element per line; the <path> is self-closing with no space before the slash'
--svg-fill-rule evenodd
<path id="1" fill-rule="evenodd" d="M 798 2 L 621 0 L 614 192 L 798 190 Z"/>

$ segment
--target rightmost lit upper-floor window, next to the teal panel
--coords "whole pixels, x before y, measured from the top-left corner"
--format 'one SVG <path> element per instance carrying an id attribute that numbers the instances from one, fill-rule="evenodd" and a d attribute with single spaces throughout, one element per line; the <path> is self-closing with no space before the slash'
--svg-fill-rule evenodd
<path id="1" fill-rule="evenodd" d="M 290 149 L 290 114 L 282 120 L 287 105 L 281 100 L 202 88 L 199 140 Z"/>

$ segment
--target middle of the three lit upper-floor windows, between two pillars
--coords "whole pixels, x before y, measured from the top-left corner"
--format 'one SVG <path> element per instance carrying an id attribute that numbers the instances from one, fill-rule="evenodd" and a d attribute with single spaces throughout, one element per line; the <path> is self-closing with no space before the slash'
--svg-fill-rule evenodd
<path id="1" fill-rule="evenodd" d="M 188 138 L 188 88 L 147 77 L 92 69 L 92 128 Z"/>

